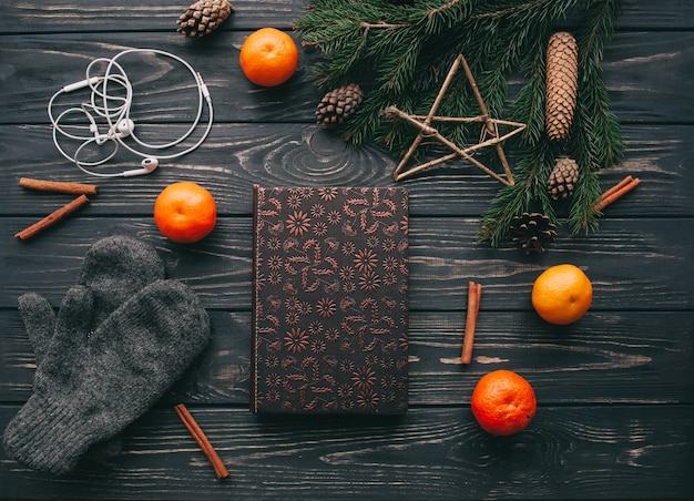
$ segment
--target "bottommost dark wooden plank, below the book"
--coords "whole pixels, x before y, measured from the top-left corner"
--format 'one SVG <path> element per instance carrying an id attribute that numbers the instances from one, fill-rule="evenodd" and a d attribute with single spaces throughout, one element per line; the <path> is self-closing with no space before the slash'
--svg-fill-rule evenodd
<path id="1" fill-rule="evenodd" d="M 0 426 L 16 411 L 0 408 Z M 220 482 L 165 409 L 125 432 L 122 457 L 59 481 L 0 452 L 0 483 L 13 499 L 690 499 L 693 411 L 540 407 L 525 431 L 494 438 L 469 408 L 382 420 L 191 408 L 229 470 Z"/>

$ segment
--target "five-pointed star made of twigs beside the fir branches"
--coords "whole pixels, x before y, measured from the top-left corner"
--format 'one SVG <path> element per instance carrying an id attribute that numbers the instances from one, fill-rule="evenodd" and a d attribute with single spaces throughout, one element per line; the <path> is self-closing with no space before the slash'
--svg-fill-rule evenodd
<path id="1" fill-rule="evenodd" d="M 468 78 L 468 81 L 470 82 L 472 92 L 474 93 L 474 96 L 477 98 L 477 102 L 480 108 L 481 114 L 477 116 L 469 116 L 469 117 L 437 116 L 436 112 L 439 105 L 441 104 L 441 101 L 443 100 L 443 95 L 446 94 L 446 91 L 448 90 L 450 82 L 452 81 L 453 76 L 456 75 L 456 72 L 458 71 L 461 64 L 466 72 L 466 76 Z M 384 113 L 389 119 L 404 120 L 405 122 L 409 123 L 416 129 L 419 129 L 419 133 L 415 137 L 415 141 L 412 142 L 407 153 L 402 156 L 402 160 L 400 161 L 400 163 L 395 170 L 392 177 L 395 178 L 396 182 L 404 180 L 408 176 L 411 176 L 414 174 L 417 174 L 418 172 L 421 172 L 426 168 L 432 167 L 435 165 L 438 165 L 443 162 L 448 162 L 449 160 L 453 160 L 458 156 L 461 156 L 463 160 L 479 167 L 480 170 L 482 170 L 484 173 L 487 173 L 488 175 L 490 175 L 491 177 L 493 177 L 501 184 L 506 186 L 513 185 L 513 174 L 511 173 L 511 167 L 509 166 L 509 162 L 506 157 L 506 154 L 503 152 L 503 146 L 501 145 L 501 143 L 503 143 L 509 137 L 512 137 L 513 135 L 522 132 L 525 129 L 525 124 L 519 123 L 519 122 L 509 122 L 506 120 L 492 119 L 489 116 L 489 112 L 487 111 L 487 105 L 484 104 L 484 100 L 482 99 L 482 95 L 480 94 L 480 91 L 477 86 L 474 78 L 472 76 L 472 72 L 470 71 L 468 61 L 465 59 L 462 54 L 459 54 L 453 61 L 453 64 L 448 71 L 448 75 L 446 76 L 446 80 L 443 81 L 443 84 L 441 85 L 441 89 L 439 90 L 439 93 L 436 96 L 433 104 L 431 105 L 431 110 L 429 110 L 429 113 L 426 116 L 410 115 L 399 110 L 397 106 L 388 106 L 384 110 Z M 453 143 L 446 136 L 443 136 L 443 134 L 441 134 L 433 126 L 431 126 L 432 122 L 483 123 L 484 129 L 482 130 L 482 137 L 478 144 L 463 149 L 463 147 L 458 146 L 456 143 Z M 499 125 L 511 126 L 513 129 L 510 132 L 503 135 L 500 135 Z M 410 157 L 412 156 L 412 154 L 415 153 L 415 151 L 417 150 L 421 141 L 426 137 L 435 139 L 439 143 L 443 144 L 449 150 L 451 150 L 452 153 L 449 153 L 447 155 L 440 156 L 438 159 L 435 159 L 429 162 L 405 170 L 405 166 L 409 162 Z M 484 165 L 482 162 L 480 162 L 479 160 L 474 159 L 474 156 L 472 156 L 479 150 L 482 150 L 488 146 L 494 146 L 494 149 L 497 150 L 497 155 L 499 155 L 499 160 L 501 161 L 501 165 L 503 166 L 503 175 L 496 173 L 494 171 L 489 168 L 487 165 Z"/>

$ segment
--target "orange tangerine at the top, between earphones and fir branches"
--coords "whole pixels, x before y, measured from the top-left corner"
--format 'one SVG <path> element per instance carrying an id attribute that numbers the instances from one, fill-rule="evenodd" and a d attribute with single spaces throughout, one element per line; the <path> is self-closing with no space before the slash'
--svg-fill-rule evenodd
<path id="1" fill-rule="evenodd" d="M 262 86 L 285 83 L 296 72 L 298 60 L 292 37 L 276 28 L 261 28 L 251 33 L 238 54 L 246 78 Z"/>

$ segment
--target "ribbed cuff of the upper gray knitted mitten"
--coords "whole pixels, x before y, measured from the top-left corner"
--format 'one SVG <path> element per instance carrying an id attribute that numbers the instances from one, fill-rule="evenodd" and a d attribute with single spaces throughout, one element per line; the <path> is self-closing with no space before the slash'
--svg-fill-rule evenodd
<path id="1" fill-rule="evenodd" d="M 34 470 L 60 476 L 71 471 L 91 443 L 103 440 L 98 419 L 32 395 L 4 430 L 7 454 Z"/>

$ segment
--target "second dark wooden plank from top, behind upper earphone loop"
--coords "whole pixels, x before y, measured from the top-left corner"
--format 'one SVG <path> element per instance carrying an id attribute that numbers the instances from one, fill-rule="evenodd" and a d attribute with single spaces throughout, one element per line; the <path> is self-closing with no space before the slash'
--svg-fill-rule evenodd
<path id="1" fill-rule="evenodd" d="M 203 45 L 187 43 L 177 33 L 141 33 L 136 43 L 132 33 L 121 32 L 7 37 L 0 48 L 7 68 L 0 105 L 12 113 L 3 114 L 2 123 L 47 123 L 45 106 L 55 91 L 83 80 L 93 59 L 133 48 L 170 51 L 193 63 L 210 88 L 217 122 L 314 122 L 320 94 L 312 84 L 310 68 L 320 54 L 302 50 L 297 73 L 287 83 L 258 88 L 238 67 L 237 51 L 247 34 L 223 32 Z M 618 32 L 603 61 L 618 117 L 624 122 L 691 123 L 694 103 L 687 90 L 694 86 L 694 58 L 687 48 L 693 44 L 692 31 Z M 192 78 L 180 65 L 161 58 L 132 57 L 121 62 L 135 94 L 133 120 L 188 120 L 194 104 L 186 106 L 188 115 L 181 109 L 194 102 Z M 522 84 L 512 83 L 511 91 Z M 70 98 L 84 99 L 80 94 Z"/>

